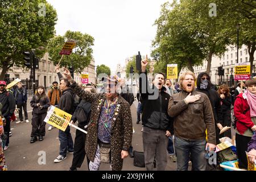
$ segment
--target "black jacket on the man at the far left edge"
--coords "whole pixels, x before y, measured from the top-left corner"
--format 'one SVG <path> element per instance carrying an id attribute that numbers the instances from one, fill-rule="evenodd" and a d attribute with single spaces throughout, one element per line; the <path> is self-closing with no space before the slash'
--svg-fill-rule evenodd
<path id="1" fill-rule="evenodd" d="M 15 110 L 15 99 L 13 93 L 5 90 L 3 93 L 0 93 L 0 102 L 3 105 L 2 115 L 3 117 L 9 117 L 13 115 Z"/>

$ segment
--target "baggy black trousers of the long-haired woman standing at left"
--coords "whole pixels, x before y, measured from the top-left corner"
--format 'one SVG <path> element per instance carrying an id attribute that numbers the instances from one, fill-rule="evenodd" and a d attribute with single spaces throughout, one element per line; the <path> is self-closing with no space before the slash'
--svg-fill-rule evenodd
<path id="1" fill-rule="evenodd" d="M 32 117 L 32 131 L 31 137 L 39 137 L 39 135 L 46 135 L 46 122 L 44 122 L 44 118 L 46 118 L 47 113 L 35 114 L 33 113 Z"/>

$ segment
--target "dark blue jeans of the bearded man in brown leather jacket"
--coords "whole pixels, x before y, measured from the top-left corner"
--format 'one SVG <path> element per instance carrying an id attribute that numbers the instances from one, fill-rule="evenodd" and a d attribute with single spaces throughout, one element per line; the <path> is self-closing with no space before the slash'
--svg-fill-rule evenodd
<path id="1" fill-rule="evenodd" d="M 188 171 L 189 156 L 191 156 L 195 171 L 206 170 L 207 160 L 204 158 L 205 139 L 184 140 L 175 137 L 174 144 L 177 156 L 177 171 Z"/>

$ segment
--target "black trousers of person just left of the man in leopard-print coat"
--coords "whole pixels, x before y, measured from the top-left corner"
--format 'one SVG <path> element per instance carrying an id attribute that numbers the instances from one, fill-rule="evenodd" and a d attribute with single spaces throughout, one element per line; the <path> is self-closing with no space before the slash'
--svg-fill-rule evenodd
<path id="1" fill-rule="evenodd" d="M 84 129 L 85 123 L 79 123 L 78 127 L 80 129 Z M 74 154 L 73 154 L 73 160 L 72 160 L 72 166 L 71 169 L 80 168 L 82 166 L 82 162 L 84 162 L 85 158 L 85 139 L 86 134 L 83 133 L 80 130 L 76 130 L 76 137 L 74 142 Z M 87 165 L 89 169 L 89 159 L 87 158 Z"/>

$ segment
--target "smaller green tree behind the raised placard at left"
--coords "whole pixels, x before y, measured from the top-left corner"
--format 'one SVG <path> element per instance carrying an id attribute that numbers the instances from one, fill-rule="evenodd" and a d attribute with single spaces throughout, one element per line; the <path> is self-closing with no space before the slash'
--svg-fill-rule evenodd
<path id="1" fill-rule="evenodd" d="M 81 73 L 93 59 L 92 46 L 94 45 L 94 38 L 89 34 L 82 34 L 79 31 L 67 31 L 64 36 L 55 36 L 48 43 L 49 56 L 52 58 L 54 64 L 59 63 L 62 56 L 59 55 L 59 52 L 67 40 L 75 40 L 76 47 L 73 48 L 71 55 L 63 56 L 60 65 L 62 67 L 70 67 L 72 65 L 74 72 Z"/>

